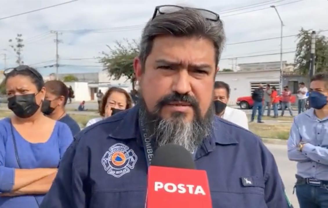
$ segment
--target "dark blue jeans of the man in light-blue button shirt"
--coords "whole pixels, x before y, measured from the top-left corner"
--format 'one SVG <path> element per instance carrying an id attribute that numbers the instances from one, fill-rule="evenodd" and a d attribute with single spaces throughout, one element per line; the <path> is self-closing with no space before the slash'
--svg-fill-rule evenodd
<path id="1" fill-rule="evenodd" d="M 310 184 L 296 185 L 296 196 L 300 208 L 327 208 L 328 186 Z"/>

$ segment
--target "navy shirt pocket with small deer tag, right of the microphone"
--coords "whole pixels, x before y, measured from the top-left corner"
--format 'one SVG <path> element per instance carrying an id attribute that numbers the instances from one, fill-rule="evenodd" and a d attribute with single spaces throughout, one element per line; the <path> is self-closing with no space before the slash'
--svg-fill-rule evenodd
<path id="1" fill-rule="evenodd" d="M 263 177 L 240 177 L 239 182 L 211 190 L 213 208 L 267 208 L 264 187 Z"/>

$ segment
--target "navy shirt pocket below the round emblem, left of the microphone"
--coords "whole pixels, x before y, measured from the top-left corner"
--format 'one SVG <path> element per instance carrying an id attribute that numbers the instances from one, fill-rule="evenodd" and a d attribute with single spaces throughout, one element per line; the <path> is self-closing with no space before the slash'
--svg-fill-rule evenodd
<path id="1" fill-rule="evenodd" d="M 92 193 L 90 208 L 142 208 L 145 207 L 145 187 L 117 189 Z"/>

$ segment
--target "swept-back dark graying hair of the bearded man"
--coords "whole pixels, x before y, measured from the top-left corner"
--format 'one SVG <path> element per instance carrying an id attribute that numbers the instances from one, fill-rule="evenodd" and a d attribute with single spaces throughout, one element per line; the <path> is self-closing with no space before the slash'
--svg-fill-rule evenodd
<path id="1" fill-rule="evenodd" d="M 215 66 L 225 43 L 222 21 L 207 20 L 197 9 L 185 8 L 169 14 L 158 14 L 148 21 L 142 32 L 139 59 L 143 66 L 152 51 L 154 38 L 159 35 L 200 36 L 210 39 L 215 47 Z"/>

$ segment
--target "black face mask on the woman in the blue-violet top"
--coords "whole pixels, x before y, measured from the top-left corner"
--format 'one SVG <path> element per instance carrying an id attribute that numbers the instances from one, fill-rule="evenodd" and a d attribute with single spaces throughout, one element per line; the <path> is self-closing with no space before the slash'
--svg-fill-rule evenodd
<path id="1" fill-rule="evenodd" d="M 29 118 L 39 109 L 35 94 L 14 95 L 8 98 L 8 108 L 20 118 Z"/>

